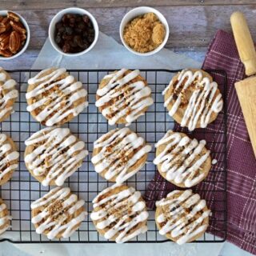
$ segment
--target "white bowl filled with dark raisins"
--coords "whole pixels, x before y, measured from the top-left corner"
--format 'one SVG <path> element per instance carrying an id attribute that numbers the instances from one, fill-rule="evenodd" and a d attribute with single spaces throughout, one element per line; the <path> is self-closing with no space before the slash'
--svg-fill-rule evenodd
<path id="1" fill-rule="evenodd" d="M 60 54 L 86 54 L 98 40 L 98 23 L 87 10 L 67 8 L 58 12 L 51 20 L 49 38 Z"/>

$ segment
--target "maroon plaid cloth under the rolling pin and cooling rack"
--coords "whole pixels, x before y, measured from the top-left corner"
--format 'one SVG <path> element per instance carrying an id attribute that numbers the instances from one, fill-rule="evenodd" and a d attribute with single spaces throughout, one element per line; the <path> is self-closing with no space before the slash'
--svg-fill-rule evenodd
<path id="1" fill-rule="evenodd" d="M 227 90 L 226 90 L 226 107 L 227 107 L 227 240 L 233 242 L 235 245 L 241 247 L 243 250 L 247 250 L 252 254 L 256 254 L 256 160 L 250 143 L 250 138 L 246 130 L 246 124 L 242 116 L 242 110 L 240 108 L 238 97 L 234 89 L 234 82 L 242 80 L 244 78 L 244 68 L 242 62 L 238 57 L 238 51 L 236 49 L 234 38 L 232 34 L 228 34 L 222 30 L 218 30 L 211 42 L 208 53 L 206 54 L 205 62 L 202 65 L 203 69 L 217 69 L 226 70 L 227 74 Z M 214 80 L 218 82 L 221 79 L 216 76 Z M 222 142 L 223 134 L 217 133 L 223 128 L 218 125 L 218 118 L 214 122 L 207 126 L 204 138 L 207 141 L 206 146 L 210 149 L 211 143 Z M 256 127 L 255 127 L 256 129 Z M 175 126 L 175 130 L 186 131 L 180 126 Z M 216 132 L 216 134 L 215 134 Z M 194 131 L 193 137 L 202 138 L 202 132 L 200 129 Z M 214 157 L 218 159 L 218 162 L 224 161 L 223 145 L 220 143 L 217 149 L 219 154 L 215 154 Z M 204 193 L 201 193 L 203 198 L 206 198 L 210 209 L 214 208 L 216 216 L 214 218 L 222 218 L 221 213 L 218 214 L 218 210 L 221 212 L 221 202 L 223 193 L 216 194 L 212 192 L 213 187 L 219 190 L 224 190 L 225 183 L 222 182 L 221 172 L 223 171 L 223 165 L 218 164 L 214 166 L 214 170 L 217 173 L 209 174 L 208 180 L 214 178 L 215 184 L 211 182 L 201 182 L 198 186 L 195 186 L 194 190 L 202 190 L 202 186 L 205 189 Z M 218 171 L 220 174 L 218 174 Z M 212 170 L 213 172 L 213 170 Z M 212 175 L 212 177 L 210 176 Z M 154 180 L 150 182 L 146 191 L 146 201 L 149 208 L 154 208 L 154 203 L 166 196 L 168 191 L 174 190 L 174 187 L 170 182 L 164 180 L 158 172 L 155 174 Z M 207 191 L 208 189 L 208 191 Z M 217 191 L 217 190 L 216 190 Z M 213 194 L 214 193 L 214 194 Z M 214 202 L 215 201 L 215 202 Z M 218 205 L 219 202 L 219 205 Z M 212 223 L 208 231 L 213 234 L 217 234 L 220 237 L 224 237 L 222 232 L 216 233 L 214 230 L 221 229 L 219 223 Z"/>

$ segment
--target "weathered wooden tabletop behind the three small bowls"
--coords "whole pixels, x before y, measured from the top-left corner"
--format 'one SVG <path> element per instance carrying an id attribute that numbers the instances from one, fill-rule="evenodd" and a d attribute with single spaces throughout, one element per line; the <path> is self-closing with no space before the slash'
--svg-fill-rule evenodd
<path id="1" fill-rule="evenodd" d="M 22 56 L 0 61 L 5 69 L 30 68 L 46 38 L 51 18 L 58 10 L 78 6 L 89 10 L 99 29 L 120 42 L 118 29 L 122 17 L 135 6 L 154 6 L 166 17 L 170 38 L 166 47 L 202 61 L 216 30 L 230 31 L 230 14 L 246 14 L 253 38 L 256 39 L 255 0 L 2 0 L 2 10 L 21 14 L 30 26 L 30 46 Z"/>

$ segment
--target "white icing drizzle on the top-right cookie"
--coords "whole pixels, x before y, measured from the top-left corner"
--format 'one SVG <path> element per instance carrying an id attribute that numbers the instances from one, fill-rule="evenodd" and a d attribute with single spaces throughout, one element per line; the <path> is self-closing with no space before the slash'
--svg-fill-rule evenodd
<path id="1" fill-rule="evenodd" d="M 195 79 L 198 79 L 181 122 L 181 126 L 187 126 L 189 130 L 194 130 L 198 122 L 200 122 L 201 128 L 205 128 L 210 122 L 211 114 L 213 112 L 220 112 L 223 106 L 222 95 L 218 94 L 215 97 L 218 90 L 218 84 L 216 82 L 210 82 L 209 78 L 203 78 L 202 76 L 202 71 L 199 70 L 194 72 L 194 74 L 190 70 L 182 70 L 178 75 L 178 83 L 174 89 L 180 90 L 178 98 L 174 100 L 174 93 L 170 94 L 170 98 L 167 98 L 164 104 L 164 106 L 168 106 L 170 102 L 173 102 L 173 106 L 169 111 L 169 114 L 172 117 L 182 103 L 182 94 L 189 89 L 191 83 L 194 82 Z M 186 82 L 184 83 L 185 80 Z M 162 94 L 166 94 L 171 86 L 173 86 L 172 80 Z"/>

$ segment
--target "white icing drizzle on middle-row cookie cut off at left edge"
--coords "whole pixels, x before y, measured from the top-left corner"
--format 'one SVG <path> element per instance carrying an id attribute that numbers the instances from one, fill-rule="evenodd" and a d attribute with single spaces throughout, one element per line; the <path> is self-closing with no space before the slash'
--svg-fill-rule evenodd
<path id="1" fill-rule="evenodd" d="M 0 182 L 5 178 L 6 174 L 18 168 L 18 157 L 18 152 L 12 150 L 12 146 L 7 141 L 6 134 L 0 134 Z M 9 165 L 13 161 L 17 163 Z"/>

